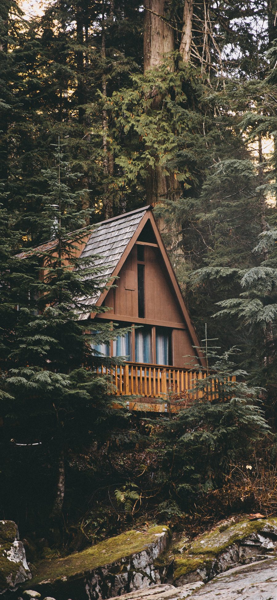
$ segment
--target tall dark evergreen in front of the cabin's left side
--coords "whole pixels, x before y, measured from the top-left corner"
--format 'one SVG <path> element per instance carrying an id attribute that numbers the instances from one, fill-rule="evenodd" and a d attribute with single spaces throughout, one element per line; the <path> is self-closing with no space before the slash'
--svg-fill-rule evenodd
<path id="1" fill-rule="evenodd" d="M 55 167 L 43 173 L 45 192 L 40 198 L 41 236 L 46 239 L 46 233 L 52 232 L 52 239 L 13 260 L 9 296 L 17 304 L 9 308 L 13 329 L 7 320 L 4 340 L 8 337 L 8 343 L 1 348 L 5 435 L 13 431 L 14 443 L 34 444 L 34 448 L 37 444 L 48 448 L 52 440 L 58 469 L 55 497 L 50 494 L 49 498 L 52 520 L 62 511 L 68 446 L 103 444 L 118 439 L 119 428 L 128 427 L 124 411 L 112 409 L 109 378 L 95 372 L 99 363 L 109 367 L 111 362 L 121 364 L 122 359 L 105 359 L 93 349 L 95 342 L 107 343 L 125 330 L 111 332 L 109 325 L 101 324 L 94 335 L 88 331 L 88 322 L 79 318 L 106 310 L 96 310 L 95 298 L 108 282 L 94 257 L 78 257 L 77 250 L 91 227 L 80 229 L 86 211 L 79 209 L 79 191 L 70 190 L 74 176 L 60 146 L 55 160 Z M 10 254 L 5 248 L 3 253 L 5 269 Z"/>

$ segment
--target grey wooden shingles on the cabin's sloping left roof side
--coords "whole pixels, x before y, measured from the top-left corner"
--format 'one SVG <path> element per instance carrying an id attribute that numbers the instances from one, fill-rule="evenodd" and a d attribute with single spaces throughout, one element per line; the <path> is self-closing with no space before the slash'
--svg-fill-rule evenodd
<path id="1" fill-rule="evenodd" d="M 141 219 L 149 208 L 149 206 L 143 206 L 143 208 L 136 211 L 102 221 L 92 232 L 81 257 L 100 255 L 93 259 L 93 264 L 100 268 L 103 267 L 101 275 L 106 280 L 112 277 L 116 265 L 118 265 L 122 254 L 133 238 L 137 227 L 139 227 Z M 82 304 L 95 304 L 100 295 L 95 298 L 83 298 Z M 82 313 L 79 319 L 88 319 L 89 315 L 90 313 Z"/>

